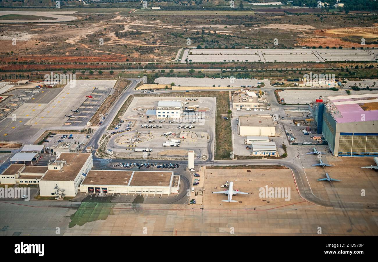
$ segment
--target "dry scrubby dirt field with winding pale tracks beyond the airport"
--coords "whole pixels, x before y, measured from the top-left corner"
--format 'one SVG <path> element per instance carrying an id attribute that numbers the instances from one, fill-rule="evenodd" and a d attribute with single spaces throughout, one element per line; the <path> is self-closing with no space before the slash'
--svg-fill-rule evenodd
<path id="1" fill-rule="evenodd" d="M 204 18 L 183 12 L 163 15 L 160 12 L 129 13 L 124 9 L 73 10 L 77 11 L 73 15 L 78 19 L 68 23 L 3 25 L 0 28 L 1 60 L 170 61 L 176 57 L 178 49 L 187 46 L 187 38 L 191 39 L 189 46 L 252 48 L 272 48 L 273 39 L 277 38 L 277 48 L 298 48 L 305 45 L 358 47 L 364 37 L 365 47 L 378 46 L 378 18 L 373 14 L 237 15 L 234 12 Z M 345 24 L 349 27 L 344 28 Z M 16 45 L 12 45 L 13 38 Z"/>

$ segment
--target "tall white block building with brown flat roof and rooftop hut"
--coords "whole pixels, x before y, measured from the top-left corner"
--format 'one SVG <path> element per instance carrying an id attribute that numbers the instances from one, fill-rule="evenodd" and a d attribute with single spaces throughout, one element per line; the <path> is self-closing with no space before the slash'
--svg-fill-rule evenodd
<path id="1" fill-rule="evenodd" d="M 47 165 L 48 170 L 39 182 L 41 196 L 76 196 L 80 184 L 93 167 L 91 153 L 60 153 Z"/>

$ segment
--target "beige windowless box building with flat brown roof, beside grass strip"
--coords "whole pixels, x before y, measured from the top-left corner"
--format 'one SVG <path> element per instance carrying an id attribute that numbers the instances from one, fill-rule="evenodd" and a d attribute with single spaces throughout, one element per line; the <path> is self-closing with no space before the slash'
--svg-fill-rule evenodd
<path id="1" fill-rule="evenodd" d="M 270 115 L 239 116 L 240 136 L 275 136 L 276 127 Z"/>

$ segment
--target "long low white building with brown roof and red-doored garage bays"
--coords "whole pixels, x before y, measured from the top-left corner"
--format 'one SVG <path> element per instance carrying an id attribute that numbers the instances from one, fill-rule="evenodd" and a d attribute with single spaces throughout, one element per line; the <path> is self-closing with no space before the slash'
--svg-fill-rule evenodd
<path id="1" fill-rule="evenodd" d="M 116 194 L 178 193 L 180 176 L 166 171 L 90 170 L 80 185 L 80 192 Z"/>

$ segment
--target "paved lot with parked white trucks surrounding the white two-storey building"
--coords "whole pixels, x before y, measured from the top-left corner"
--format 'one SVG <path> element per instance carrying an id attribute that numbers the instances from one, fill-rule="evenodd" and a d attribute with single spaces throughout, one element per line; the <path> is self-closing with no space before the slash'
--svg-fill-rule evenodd
<path id="1" fill-rule="evenodd" d="M 175 97 L 133 98 L 121 118 L 124 123 L 121 123 L 119 128 L 119 130 L 125 130 L 125 125 L 132 121 L 131 130 L 112 135 L 108 149 L 112 149 L 115 156 L 130 158 L 185 158 L 188 150 L 194 150 L 197 158 L 202 159 L 203 156 L 207 158 L 210 150 L 214 147 L 215 98 L 194 99 L 197 100 L 190 101 Z M 199 107 L 193 112 L 184 110 L 183 116 L 178 119 L 156 118 L 155 109 L 158 101 L 161 100 L 181 100 L 184 107 L 194 105 Z M 143 109 L 143 111 L 138 111 L 138 109 Z M 175 121 L 169 123 L 172 120 Z M 149 121 L 153 122 L 149 123 Z M 158 128 L 158 126 L 161 127 Z M 189 128 L 190 126 L 193 127 Z M 119 130 L 108 130 L 108 132 L 111 135 L 112 132 Z M 164 134 L 166 135 L 164 136 Z M 176 140 L 177 145 L 180 145 L 163 146 L 164 143 L 171 140 Z M 149 149 L 148 152 L 144 152 L 146 150 L 138 151 L 146 148 Z"/>

